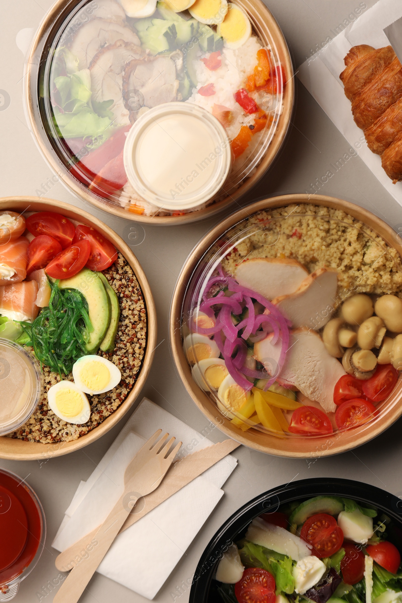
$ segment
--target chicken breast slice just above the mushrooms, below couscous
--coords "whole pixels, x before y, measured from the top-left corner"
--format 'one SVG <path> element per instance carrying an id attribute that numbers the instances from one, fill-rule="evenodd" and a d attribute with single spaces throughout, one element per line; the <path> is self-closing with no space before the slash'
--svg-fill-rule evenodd
<path id="1" fill-rule="evenodd" d="M 318 330 L 331 318 L 336 300 L 338 277 L 336 272 L 319 268 L 290 295 L 272 300 L 281 313 L 292 321 L 292 326 Z"/>

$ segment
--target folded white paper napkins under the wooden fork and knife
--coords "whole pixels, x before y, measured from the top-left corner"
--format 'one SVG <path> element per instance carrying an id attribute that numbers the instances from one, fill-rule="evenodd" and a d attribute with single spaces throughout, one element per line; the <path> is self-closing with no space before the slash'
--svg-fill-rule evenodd
<path id="1" fill-rule="evenodd" d="M 187 453 L 212 444 L 144 398 L 87 482 L 79 485 L 52 543 L 55 549 L 64 551 L 105 519 L 124 488 L 125 467 L 159 427 L 182 440 Z M 98 572 L 153 599 L 223 496 L 221 486 L 236 464 L 226 456 L 119 534 Z"/>

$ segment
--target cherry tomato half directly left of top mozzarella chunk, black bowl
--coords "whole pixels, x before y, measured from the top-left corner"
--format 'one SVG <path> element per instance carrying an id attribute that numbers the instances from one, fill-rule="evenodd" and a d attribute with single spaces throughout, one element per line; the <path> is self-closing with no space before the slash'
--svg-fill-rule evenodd
<path id="1" fill-rule="evenodd" d="M 300 537 L 313 546 L 313 555 L 321 559 L 339 551 L 344 541 L 344 532 L 334 517 L 318 513 L 303 523 Z"/>

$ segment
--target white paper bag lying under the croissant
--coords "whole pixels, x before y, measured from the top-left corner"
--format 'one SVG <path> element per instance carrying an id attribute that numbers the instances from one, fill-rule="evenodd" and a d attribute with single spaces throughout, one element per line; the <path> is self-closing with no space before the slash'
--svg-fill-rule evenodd
<path id="1" fill-rule="evenodd" d="M 368 44 L 374 48 L 388 46 L 389 40 L 383 29 L 402 16 L 401 0 L 378 0 L 372 8 L 365 11 L 356 21 L 338 36 L 328 42 L 324 48 L 308 58 L 298 68 L 298 78 L 324 109 L 339 131 L 348 140 L 353 154 L 359 154 L 372 173 L 380 180 L 386 190 L 402 205 L 402 182 L 393 185 L 381 165 L 381 157 L 372 153 L 365 142 L 363 131 L 354 123 L 351 103 L 346 98 L 344 86 L 339 75 L 345 69 L 344 57 L 352 46 Z M 344 157 L 344 163 L 348 157 Z M 341 169 L 334 162 L 330 171 L 334 174 Z M 329 176 L 329 174 L 328 174 Z M 313 193 L 314 191 L 306 191 Z"/>

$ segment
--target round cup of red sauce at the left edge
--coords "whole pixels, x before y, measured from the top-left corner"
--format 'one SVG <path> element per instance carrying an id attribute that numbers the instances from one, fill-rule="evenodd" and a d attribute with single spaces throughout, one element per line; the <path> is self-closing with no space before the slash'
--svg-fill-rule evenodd
<path id="1" fill-rule="evenodd" d="M 0 472 L 0 585 L 19 576 L 36 555 L 42 516 L 24 482 Z"/>

